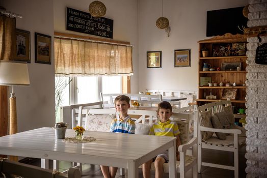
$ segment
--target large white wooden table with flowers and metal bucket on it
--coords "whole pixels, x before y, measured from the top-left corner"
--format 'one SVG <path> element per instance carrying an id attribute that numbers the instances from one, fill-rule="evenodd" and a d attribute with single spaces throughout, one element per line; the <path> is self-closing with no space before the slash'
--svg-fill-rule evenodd
<path id="1" fill-rule="evenodd" d="M 67 129 L 66 137 L 74 130 Z M 175 137 L 86 131 L 96 138 L 89 143 L 66 143 L 55 139 L 52 128 L 39 128 L 0 137 L 0 154 L 63 160 L 128 169 L 128 177 L 138 177 L 138 166 L 169 149 L 169 176 L 176 177 Z"/>

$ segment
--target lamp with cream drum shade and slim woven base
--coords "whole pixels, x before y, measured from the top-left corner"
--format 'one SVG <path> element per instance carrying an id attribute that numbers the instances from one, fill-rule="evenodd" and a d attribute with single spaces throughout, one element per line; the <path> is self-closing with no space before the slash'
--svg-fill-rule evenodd
<path id="1" fill-rule="evenodd" d="M 17 133 L 17 109 L 13 86 L 30 85 L 27 63 L 0 61 L 0 85 L 12 87 L 9 98 L 9 134 L 15 134 Z"/>

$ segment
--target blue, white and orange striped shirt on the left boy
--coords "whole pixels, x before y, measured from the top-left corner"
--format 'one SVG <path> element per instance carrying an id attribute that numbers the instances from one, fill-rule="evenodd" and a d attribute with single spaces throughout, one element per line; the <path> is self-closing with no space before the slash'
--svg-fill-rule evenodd
<path id="1" fill-rule="evenodd" d="M 131 120 L 129 115 L 124 119 L 118 116 L 111 121 L 110 132 L 135 134 L 135 129 L 136 124 Z"/>

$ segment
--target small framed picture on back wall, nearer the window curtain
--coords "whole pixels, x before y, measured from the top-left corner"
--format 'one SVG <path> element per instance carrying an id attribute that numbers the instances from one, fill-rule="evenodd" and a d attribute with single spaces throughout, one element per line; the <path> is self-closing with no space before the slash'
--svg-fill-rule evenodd
<path id="1" fill-rule="evenodd" d="M 162 68 L 162 51 L 147 51 L 147 68 Z"/>

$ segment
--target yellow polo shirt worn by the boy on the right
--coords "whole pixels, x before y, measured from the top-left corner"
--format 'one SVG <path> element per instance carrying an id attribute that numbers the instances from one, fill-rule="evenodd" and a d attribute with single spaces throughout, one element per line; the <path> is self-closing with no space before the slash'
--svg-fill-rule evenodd
<path id="1" fill-rule="evenodd" d="M 168 120 L 166 123 L 158 121 L 153 124 L 150 129 L 149 135 L 156 136 L 176 136 L 180 133 L 176 122 Z"/>

